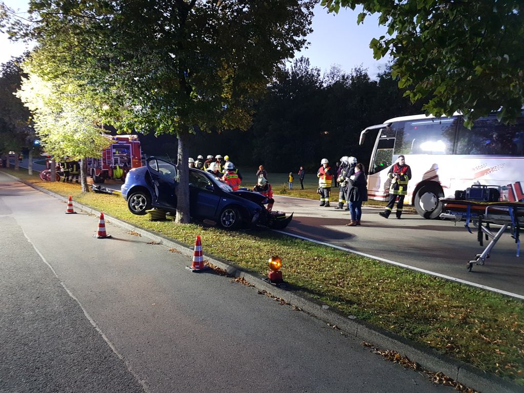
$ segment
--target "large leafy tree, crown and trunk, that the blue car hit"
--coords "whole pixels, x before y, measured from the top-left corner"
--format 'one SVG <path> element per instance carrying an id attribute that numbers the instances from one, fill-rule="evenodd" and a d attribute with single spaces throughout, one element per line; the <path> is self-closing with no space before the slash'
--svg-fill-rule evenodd
<path id="1" fill-rule="evenodd" d="M 304 45 L 314 3 L 32 0 L 29 36 L 40 76 L 94 86 L 106 122 L 178 137 L 177 221 L 188 222 L 190 133 L 249 127 L 277 65 Z"/>

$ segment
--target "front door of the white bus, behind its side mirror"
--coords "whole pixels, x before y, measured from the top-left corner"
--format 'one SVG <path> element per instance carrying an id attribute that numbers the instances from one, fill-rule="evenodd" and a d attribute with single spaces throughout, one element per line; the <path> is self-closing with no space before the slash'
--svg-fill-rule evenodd
<path id="1" fill-rule="evenodd" d="M 367 188 L 368 196 L 371 199 L 385 200 L 389 193 L 390 179 L 387 177 L 387 172 L 393 163 L 394 148 L 395 129 L 391 127 L 381 128 L 369 164 Z"/>

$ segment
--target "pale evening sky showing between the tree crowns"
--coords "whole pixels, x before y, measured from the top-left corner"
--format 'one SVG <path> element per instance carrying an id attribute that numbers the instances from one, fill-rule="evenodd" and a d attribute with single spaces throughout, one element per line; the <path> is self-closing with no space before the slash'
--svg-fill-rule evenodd
<path id="1" fill-rule="evenodd" d="M 27 0 L 0 1 L 20 12 L 27 10 Z M 377 72 L 384 70 L 387 60 L 373 59 L 369 41 L 385 35 L 386 28 L 378 26 L 375 15 L 367 16 L 364 24 L 357 25 L 358 13 L 358 10 L 341 9 L 338 15 L 333 15 L 317 5 L 311 25 L 313 32 L 307 37 L 310 44 L 297 52 L 296 57 L 308 57 L 311 65 L 321 71 L 329 70 L 333 64 L 346 72 L 363 65 L 368 69 L 370 77 L 374 78 Z M 12 42 L 7 39 L 7 35 L 0 34 L 0 63 L 8 61 L 12 56 L 19 56 L 26 48 L 24 43 Z"/>

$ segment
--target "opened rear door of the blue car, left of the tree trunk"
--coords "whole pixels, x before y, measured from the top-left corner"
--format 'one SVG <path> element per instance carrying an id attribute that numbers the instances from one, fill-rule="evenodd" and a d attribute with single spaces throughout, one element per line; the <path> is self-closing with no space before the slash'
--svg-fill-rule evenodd
<path id="1" fill-rule="evenodd" d="M 151 204 L 158 208 L 177 208 L 177 168 L 171 163 L 150 157 L 146 162 L 147 170 L 153 182 L 155 195 Z"/>

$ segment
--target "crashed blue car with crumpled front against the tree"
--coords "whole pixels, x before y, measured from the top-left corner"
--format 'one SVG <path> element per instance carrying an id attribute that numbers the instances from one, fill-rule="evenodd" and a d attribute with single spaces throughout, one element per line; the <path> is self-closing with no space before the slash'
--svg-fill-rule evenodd
<path id="1" fill-rule="evenodd" d="M 151 208 L 170 212 L 177 209 L 177 168 L 168 161 L 150 157 L 144 167 L 129 171 L 121 192 L 133 214 Z M 189 168 L 189 210 L 193 220 L 212 220 L 225 229 L 242 225 L 285 228 L 293 214 L 270 212 L 267 198 L 254 191 L 231 187 L 209 172 Z"/>

